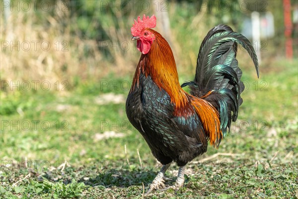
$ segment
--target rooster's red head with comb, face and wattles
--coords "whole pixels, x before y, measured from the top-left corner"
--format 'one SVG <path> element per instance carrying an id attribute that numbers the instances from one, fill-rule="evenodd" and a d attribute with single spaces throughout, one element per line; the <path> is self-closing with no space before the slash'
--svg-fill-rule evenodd
<path id="1" fill-rule="evenodd" d="M 147 54 L 150 50 L 151 44 L 155 39 L 155 35 L 150 28 L 154 28 L 156 26 L 156 17 L 152 15 L 146 17 L 144 14 L 143 20 L 141 20 L 140 16 L 138 17 L 138 21 L 135 20 L 135 24 L 131 28 L 131 32 L 133 35 L 132 40 L 137 40 L 137 48 L 143 54 Z"/>

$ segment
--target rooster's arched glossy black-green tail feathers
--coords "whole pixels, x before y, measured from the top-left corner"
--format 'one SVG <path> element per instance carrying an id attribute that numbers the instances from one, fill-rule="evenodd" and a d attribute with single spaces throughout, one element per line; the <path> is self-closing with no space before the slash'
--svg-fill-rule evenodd
<path id="1" fill-rule="evenodd" d="M 243 101 L 240 94 L 244 84 L 240 81 L 242 71 L 236 60 L 237 43 L 247 50 L 259 77 L 257 56 L 249 40 L 221 24 L 208 32 L 200 46 L 195 80 L 181 85 L 190 86 L 191 94 L 200 98 L 213 91 L 205 100 L 217 107 L 223 135 L 231 121 L 236 121 Z"/>

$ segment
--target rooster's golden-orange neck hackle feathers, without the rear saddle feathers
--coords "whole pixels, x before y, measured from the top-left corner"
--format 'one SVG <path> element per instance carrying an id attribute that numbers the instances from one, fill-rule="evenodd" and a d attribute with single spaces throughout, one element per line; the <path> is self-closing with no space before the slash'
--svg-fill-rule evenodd
<path id="1" fill-rule="evenodd" d="M 188 94 L 180 87 L 178 73 L 173 52 L 168 42 L 156 31 L 149 29 L 155 35 L 149 53 L 142 54 L 134 77 L 134 84 L 139 83 L 140 73 L 150 76 L 152 81 L 163 89 L 175 104 L 175 114 L 189 113 Z M 183 110 L 183 111 L 180 111 Z"/>

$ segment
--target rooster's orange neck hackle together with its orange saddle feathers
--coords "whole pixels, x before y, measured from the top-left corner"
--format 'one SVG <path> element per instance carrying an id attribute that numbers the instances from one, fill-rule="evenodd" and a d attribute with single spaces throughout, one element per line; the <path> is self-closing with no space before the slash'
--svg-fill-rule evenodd
<path id="1" fill-rule="evenodd" d="M 133 79 L 131 92 L 139 87 L 140 74 L 150 76 L 161 90 L 163 89 L 175 105 L 174 115 L 188 117 L 195 113 L 200 117 L 206 136 L 213 146 L 218 146 L 222 138 L 218 110 L 208 101 L 186 93 L 180 86 L 173 52 L 167 41 L 156 31 L 149 29 L 155 39 L 147 54 L 142 54 Z M 210 95 L 208 93 L 206 96 Z"/>

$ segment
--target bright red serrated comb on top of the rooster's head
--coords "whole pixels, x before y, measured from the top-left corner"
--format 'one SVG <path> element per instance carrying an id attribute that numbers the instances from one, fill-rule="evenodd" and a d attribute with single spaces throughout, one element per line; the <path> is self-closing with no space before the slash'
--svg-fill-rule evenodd
<path id="1" fill-rule="evenodd" d="M 156 17 L 152 15 L 150 18 L 149 16 L 143 15 L 143 20 L 141 17 L 138 16 L 138 21 L 135 19 L 135 24 L 131 28 L 132 35 L 137 36 L 144 28 L 154 28 L 156 26 Z"/>

